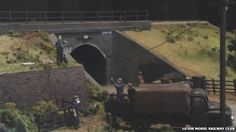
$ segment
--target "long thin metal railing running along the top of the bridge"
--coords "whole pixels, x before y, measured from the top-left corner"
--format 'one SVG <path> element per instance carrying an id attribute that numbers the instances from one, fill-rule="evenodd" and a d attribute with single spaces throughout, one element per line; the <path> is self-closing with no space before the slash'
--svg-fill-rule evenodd
<path id="1" fill-rule="evenodd" d="M 131 11 L 0 11 L 1 22 L 148 20 L 147 10 Z"/>

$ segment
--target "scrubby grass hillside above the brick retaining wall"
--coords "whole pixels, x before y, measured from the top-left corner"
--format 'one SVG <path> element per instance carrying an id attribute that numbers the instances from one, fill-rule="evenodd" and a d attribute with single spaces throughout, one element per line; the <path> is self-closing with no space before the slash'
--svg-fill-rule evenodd
<path id="1" fill-rule="evenodd" d="M 0 74 L 57 67 L 55 61 L 56 49 L 45 32 L 0 35 Z"/>

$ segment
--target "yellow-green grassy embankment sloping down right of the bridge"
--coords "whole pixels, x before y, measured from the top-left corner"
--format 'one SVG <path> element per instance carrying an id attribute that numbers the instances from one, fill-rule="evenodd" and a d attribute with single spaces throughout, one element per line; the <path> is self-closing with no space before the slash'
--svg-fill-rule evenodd
<path id="1" fill-rule="evenodd" d="M 181 36 L 178 33 L 191 24 L 152 24 L 150 31 L 124 31 L 122 34 L 136 41 L 146 49 L 155 47 L 165 40 L 165 44 L 151 50 L 154 54 L 168 60 L 187 75 L 203 74 L 207 78 L 219 78 L 219 28 L 200 23 Z M 227 42 L 235 36 L 227 33 Z M 236 72 L 227 67 L 227 79 L 235 79 Z"/>

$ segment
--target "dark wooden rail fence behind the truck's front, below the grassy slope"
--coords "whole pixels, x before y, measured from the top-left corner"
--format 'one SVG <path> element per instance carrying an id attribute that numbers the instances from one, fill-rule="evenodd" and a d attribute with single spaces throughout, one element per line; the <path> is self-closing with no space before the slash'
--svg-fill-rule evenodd
<path id="1" fill-rule="evenodd" d="M 206 80 L 206 90 L 207 92 L 212 92 L 214 94 L 220 92 L 220 80 Z M 236 93 L 236 80 L 225 81 L 225 92 L 226 93 Z"/>

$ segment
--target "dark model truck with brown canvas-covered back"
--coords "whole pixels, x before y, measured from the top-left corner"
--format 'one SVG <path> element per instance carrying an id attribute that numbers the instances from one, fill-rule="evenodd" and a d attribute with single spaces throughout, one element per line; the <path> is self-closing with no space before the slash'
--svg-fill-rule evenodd
<path id="1" fill-rule="evenodd" d="M 122 102 L 111 94 L 105 111 L 111 117 L 120 117 L 134 127 L 149 126 L 154 122 L 173 125 L 221 126 L 219 103 L 208 100 L 201 88 L 190 88 L 187 83 L 143 84 L 136 88 L 134 100 L 124 95 Z M 232 125 L 232 111 L 226 105 L 226 125 Z"/>

